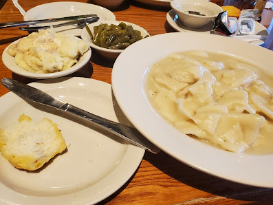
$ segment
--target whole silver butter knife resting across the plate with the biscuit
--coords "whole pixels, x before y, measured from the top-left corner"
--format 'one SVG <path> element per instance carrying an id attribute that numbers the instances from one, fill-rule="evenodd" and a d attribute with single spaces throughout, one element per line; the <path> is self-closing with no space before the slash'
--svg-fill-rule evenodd
<path id="1" fill-rule="evenodd" d="M 47 105 L 49 107 L 65 111 L 66 113 L 77 116 L 83 120 L 87 120 L 88 122 L 94 123 L 103 129 L 107 129 L 111 133 L 116 134 L 116 136 L 119 136 L 124 140 L 128 140 L 132 144 L 135 144 L 136 146 L 146 151 L 150 151 L 151 153 L 158 153 L 160 151 L 160 149 L 155 147 L 154 144 L 144 138 L 144 136 L 142 136 L 142 134 L 133 127 L 122 125 L 118 122 L 113 122 L 111 120 L 107 120 L 105 118 L 101 118 L 100 116 L 91 114 L 87 111 L 84 111 L 83 109 L 75 107 L 74 105 L 63 102 L 58 98 L 54 98 L 53 96 L 46 94 L 44 91 L 20 83 L 17 80 L 3 78 L 1 79 L 1 83 L 21 98 L 37 102 L 41 105 Z"/>

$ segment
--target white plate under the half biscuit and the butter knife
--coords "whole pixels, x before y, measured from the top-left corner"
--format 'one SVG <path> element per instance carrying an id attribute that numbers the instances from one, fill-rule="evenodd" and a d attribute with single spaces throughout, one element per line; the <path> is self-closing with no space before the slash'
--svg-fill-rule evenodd
<path id="1" fill-rule="evenodd" d="M 107 83 L 58 78 L 30 85 L 98 116 L 116 122 L 122 117 Z M 126 183 L 144 155 L 143 149 L 108 132 L 42 105 L 32 107 L 11 92 L 0 98 L 0 106 L 1 127 L 21 114 L 35 121 L 47 117 L 58 124 L 67 144 L 66 153 L 34 172 L 15 169 L 0 155 L 0 204 L 95 204 Z"/>

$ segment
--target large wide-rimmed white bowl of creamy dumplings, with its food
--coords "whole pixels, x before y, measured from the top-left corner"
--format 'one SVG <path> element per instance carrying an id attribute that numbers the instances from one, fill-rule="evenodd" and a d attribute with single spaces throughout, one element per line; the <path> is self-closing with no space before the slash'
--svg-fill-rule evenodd
<path id="1" fill-rule="evenodd" d="M 224 36 L 160 34 L 118 56 L 113 94 L 133 126 L 173 158 L 272 188 L 272 59 L 264 47 Z"/>

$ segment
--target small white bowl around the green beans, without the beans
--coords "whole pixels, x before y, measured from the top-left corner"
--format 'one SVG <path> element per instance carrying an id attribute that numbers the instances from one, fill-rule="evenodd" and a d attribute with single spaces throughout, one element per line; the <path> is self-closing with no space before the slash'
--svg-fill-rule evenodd
<path id="1" fill-rule="evenodd" d="M 93 36 L 94 36 L 94 26 L 98 26 L 100 25 L 100 23 L 107 23 L 108 25 L 111 25 L 111 24 L 114 24 L 114 25 L 118 25 L 119 23 L 121 22 L 124 22 L 126 23 L 127 25 L 132 25 L 133 26 L 133 29 L 134 30 L 139 30 L 141 32 L 141 35 L 143 36 L 143 38 L 145 36 L 150 36 L 149 33 L 144 30 L 144 28 L 140 27 L 139 25 L 135 25 L 133 23 L 129 23 L 129 22 L 126 22 L 126 21 L 100 21 L 100 22 L 96 22 L 96 23 L 91 23 L 88 25 L 89 29 L 91 30 Z M 95 45 L 86 28 L 83 29 L 82 33 L 80 34 L 81 38 L 87 42 L 90 43 L 90 46 L 92 49 L 96 50 L 96 52 L 98 52 L 98 54 L 102 55 L 102 56 L 105 56 L 105 58 L 109 58 L 111 60 L 114 60 L 118 57 L 118 55 L 124 51 L 124 50 L 112 50 L 112 49 L 108 49 L 108 48 L 104 48 L 104 47 L 100 47 L 98 45 Z"/>

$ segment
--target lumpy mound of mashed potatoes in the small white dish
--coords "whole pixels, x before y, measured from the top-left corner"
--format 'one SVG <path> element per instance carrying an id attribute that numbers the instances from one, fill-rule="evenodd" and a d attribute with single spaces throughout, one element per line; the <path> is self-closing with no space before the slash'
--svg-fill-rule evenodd
<path id="1" fill-rule="evenodd" d="M 11 45 L 7 52 L 19 67 L 34 73 L 59 72 L 72 67 L 89 45 L 73 36 L 40 30 Z"/>

